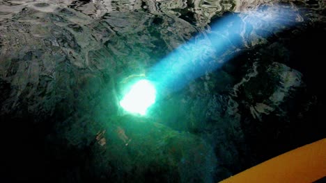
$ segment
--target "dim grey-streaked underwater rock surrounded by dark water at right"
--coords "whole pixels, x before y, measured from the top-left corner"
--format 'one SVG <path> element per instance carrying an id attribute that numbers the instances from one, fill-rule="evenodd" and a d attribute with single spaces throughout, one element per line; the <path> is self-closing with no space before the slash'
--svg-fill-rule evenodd
<path id="1" fill-rule="evenodd" d="M 263 68 L 261 68 L 263 67 Z M 259 70 L 259 71 L 258 71 Z M 263 78 L 263 79 L 262 79 Z M 233 95 L 244 92 L 244 100 L 254 119 L 262 121 L 262 116 L 279 109 L 281 103 L 291 98 L 293 91 L 302 84 L 302 73 L 290 69 L 285 64 L 273 62 L 267 67 L 254 62 L 250 73 L 233 88 Z M 281 114 L 279 114 L 281 115 Z"/>

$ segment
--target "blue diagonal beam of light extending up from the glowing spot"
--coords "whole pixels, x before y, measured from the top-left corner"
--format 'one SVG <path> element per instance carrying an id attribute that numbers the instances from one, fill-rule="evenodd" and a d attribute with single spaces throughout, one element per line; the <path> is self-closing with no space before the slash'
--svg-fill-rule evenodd
<path id="1" fill-rule="evenodd" d="M 296 16 L 289 8 L 274 6 L 221 18 L 207 33 L 193 37 L 160 60 L 148 72 L 148 80 L 155 82 L 157 90 L 175 92 L 253 46 L 255 30 L 262 30 L 261 37 L 267 38 L 292 24 Z"/>

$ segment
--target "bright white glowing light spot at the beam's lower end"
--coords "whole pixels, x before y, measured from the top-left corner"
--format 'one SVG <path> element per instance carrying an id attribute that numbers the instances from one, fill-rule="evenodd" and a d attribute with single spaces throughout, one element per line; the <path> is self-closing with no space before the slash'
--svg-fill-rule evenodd
<path id="1" fill-rule="evenodd" d="M 144 115 L 147 108 L 155 103 L 155 98 L 155 87 L 148 80 L 139 80 L 120 101 L 120 105 L 127 112 Z"/>

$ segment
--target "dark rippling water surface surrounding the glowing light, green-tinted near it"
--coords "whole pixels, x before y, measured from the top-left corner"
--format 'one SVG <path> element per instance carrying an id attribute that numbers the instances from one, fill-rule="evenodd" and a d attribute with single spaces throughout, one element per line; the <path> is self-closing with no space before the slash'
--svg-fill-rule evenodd
<path id="1" fill-rule="evenodd" d="M 221 67 L 194 64 L 146 116 L 121 109 L 128 83 L 191 39 L 208 51 L 230 15 L 217 35 L 241 44 L 226 39 Z M 3 180 L 217 182 L 321 139 L 325 22 L 321 0 L 3 0 Z"/>

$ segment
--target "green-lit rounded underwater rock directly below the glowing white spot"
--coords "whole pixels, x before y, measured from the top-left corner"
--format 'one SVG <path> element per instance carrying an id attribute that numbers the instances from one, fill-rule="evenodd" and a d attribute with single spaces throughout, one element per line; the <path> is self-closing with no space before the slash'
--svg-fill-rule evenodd
<path id="1" fill-rule="evenodd" d="M 74 125 L 75 121 L 57 131 L 70 146 L 90 147 L 88 166 L 94 181 L 212 182 L 215 155 L 193 134 L 130 115 L 85 121 L 86 128 Z"/>

